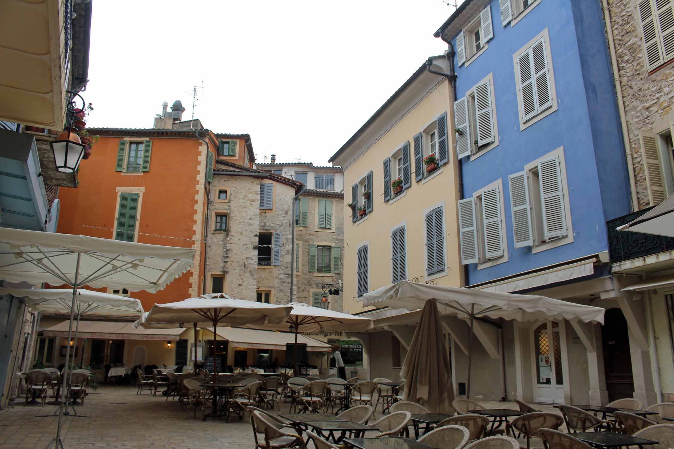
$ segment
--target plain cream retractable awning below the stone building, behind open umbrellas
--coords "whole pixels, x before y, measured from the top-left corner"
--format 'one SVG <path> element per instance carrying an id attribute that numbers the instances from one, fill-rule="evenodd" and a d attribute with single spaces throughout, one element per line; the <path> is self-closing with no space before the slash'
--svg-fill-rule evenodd
<path id="1" fill-rule="evenodd" d="M 208 328 L 213 332 L 213 328 Z M 276 331 L 258 331 L 240 327 L 218 327 L 218 337 L 229 340 L 232 347 L 246 349 L 280 349 L 285 351 L 286 343 L 295 343 L 295 334 Z M 297 335 L 297 343 L 307 345 L 307 351 L 330 352 L 332 346 L 304 335 Z"/>

